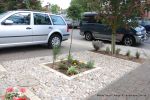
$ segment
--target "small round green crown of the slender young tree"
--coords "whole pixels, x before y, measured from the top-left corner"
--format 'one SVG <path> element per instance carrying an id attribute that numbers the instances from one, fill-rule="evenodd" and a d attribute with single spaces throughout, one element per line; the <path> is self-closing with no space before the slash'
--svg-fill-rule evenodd
<path id="1" fill-rule="evenodd" d="M 81 6 L 80 5 L 71 5 L 67 10 L 67 15 L 72 20 L 78 20 L 81 18 Z"/>

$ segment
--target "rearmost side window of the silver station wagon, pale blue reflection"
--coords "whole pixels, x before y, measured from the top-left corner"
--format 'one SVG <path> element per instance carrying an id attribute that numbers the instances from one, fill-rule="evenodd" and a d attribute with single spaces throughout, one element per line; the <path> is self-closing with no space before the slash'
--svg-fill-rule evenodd
<path id="1" fill-rule="evenodd" d="M 60 16 L 51 15 L 51 19 L 54 25 L 66 25 L 65 21 Z"/>

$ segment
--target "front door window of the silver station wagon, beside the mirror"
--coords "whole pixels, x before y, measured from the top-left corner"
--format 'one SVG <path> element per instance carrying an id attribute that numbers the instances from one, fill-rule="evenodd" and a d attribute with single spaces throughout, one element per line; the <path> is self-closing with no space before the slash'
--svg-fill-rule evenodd
<path id="1" fill-rule="evenodd" d="M 6 20 L 13 21 L 13 25 L 30 25 L 30 16 L 30 13 L 16 13 L 8 17 Z"/>

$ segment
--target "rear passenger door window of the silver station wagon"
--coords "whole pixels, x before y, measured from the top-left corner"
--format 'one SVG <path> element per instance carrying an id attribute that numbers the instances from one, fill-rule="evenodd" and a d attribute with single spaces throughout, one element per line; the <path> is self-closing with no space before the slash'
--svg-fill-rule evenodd
<path id="1" fill-rule="evenodd" d="M 50 18 L 47 14 L 34 13 L 34 25 L 51 25 Z"/>

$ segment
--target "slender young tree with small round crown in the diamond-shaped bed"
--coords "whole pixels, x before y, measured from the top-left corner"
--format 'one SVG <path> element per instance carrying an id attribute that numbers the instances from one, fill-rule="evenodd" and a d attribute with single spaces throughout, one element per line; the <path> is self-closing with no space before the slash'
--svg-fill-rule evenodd
<path id="1" fill-rule="evenodd" d="M 67 10 L 67 15 L 74 21 L 80 19 L 81 17 L 81 8 L 80 5 L 71 5 Z M 73 29 L 71 32 L 71 42 L 70 42 L 70 48 L 69 48 L 69 56 L 71 56 L 71 48 L 72 48 L 72 36 L 73 36 Z"/>

